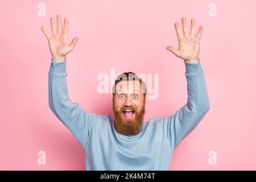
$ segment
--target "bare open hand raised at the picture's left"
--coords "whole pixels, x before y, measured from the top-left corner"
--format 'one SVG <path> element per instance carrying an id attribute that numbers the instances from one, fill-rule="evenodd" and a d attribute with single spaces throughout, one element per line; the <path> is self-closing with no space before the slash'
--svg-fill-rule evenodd
<path id="1" fill-rule="evenodd" d="M 66 55 L 73 50 L 79 38 L 74 38 L 71 43 L 68 42 L 68 18 L 64 18 L 64 28 L 62 28 L 60 15 L 57 15 L 57 29 L 54 18 L 51 18 L 51 28 L 52 36 L 49 35 L 46 28 L 41 27 L 41 30 L 48 40 L 52 60 L 56 63 L 65 61 Z"/>

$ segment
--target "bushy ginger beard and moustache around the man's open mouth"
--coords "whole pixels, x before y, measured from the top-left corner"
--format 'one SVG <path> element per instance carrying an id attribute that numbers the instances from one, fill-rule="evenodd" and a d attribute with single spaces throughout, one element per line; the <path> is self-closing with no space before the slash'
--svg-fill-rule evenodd
<path id="1" fill-rule="evenodd" d="M 125 111 L 131 110 L 131 111 Z M 113 99 L 113 112 L 115 115 L 114 127 L 115 130 L 123 135 L 137 135 L 143 126 L 143 118 L 145 113 L 145 98 L 141 111 L 138 111 L 134 106 L 123 106 L 120 110 L 114 107 Z"/>

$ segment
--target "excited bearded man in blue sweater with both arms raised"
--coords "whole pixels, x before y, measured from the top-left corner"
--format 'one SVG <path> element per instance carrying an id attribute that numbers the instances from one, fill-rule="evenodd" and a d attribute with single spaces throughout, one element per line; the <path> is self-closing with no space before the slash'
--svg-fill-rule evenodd
<path id="1" fill-rule="evenodd" d="M 113 112 L 110 115 L 88 113 L 69 99 L 66 55 L 78 38 L 68 42 L 68 19 L 57 15 L 57 27 L 51 18 L 52 35 L 41 27 L 52 54 L 49 68 L 49 107 L 75 135 L 86 151 L 88 170 L 168 170 L 177 145 L 198 125 L 210 108 L 207 85 L 199 60 L 203 26 L 196 33 L 191 20 L 190 35 L 186 19 L 175 29 L 179 48 L 167 49 L 184 60 L 188 101 L 173 115 L 143 121 L 146 86 L 134 73 L 118 76 L 113 86 Z"/>

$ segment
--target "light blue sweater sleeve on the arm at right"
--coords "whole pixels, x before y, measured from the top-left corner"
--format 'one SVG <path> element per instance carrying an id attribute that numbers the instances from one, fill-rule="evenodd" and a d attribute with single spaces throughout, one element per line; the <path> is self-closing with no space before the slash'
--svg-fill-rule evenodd
<path id="1" fill-rule="evenodd" d="M 171 116 L 164 118 L 164 131 L 173 150 L 195 127 L 210 109 L 207 85 L 200 59 L 197 64 L 185 62 L 187 104 Z"/>

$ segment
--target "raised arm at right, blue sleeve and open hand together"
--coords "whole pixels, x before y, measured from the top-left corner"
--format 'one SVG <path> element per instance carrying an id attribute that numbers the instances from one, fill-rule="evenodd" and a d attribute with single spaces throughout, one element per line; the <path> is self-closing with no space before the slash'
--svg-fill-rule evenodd
<path id="1" fill-rule="evenodd" d="M 168 46 L 171 52 L 184 60 L 185 77 L 187 79 L 188 100 L 181 109 L 173 115 L 164 118 L 164 130 L 173 150 L 195 127 L 210 109 L 210 102 L 205 82 L 205 75 L 199 59 L 200 38 L 203 26 L 200 26 L 195 36 L 195 20 L 191 20 L 191 35 L 188 35 L 188 28 L 185 18 L 182 18 L 182 35 L 179 23 L 175 28 L 179 40 L 179 48 Z"/>

